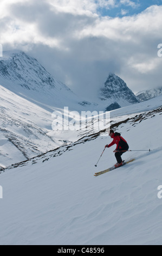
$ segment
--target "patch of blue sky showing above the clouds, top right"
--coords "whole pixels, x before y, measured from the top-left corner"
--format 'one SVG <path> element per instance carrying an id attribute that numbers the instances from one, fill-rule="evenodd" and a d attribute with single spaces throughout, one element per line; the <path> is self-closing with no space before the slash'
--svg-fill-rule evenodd
<path id="1" fill-rule="evenodd" d="M 139 14 L 141 11 L 144 11 L 146 8 L 151 5 L 161 5 L 162 0 L 142 0 L 142 1 L 115 1 L 114 6 L 109 6 L 108 8 L 98 8 L 98 13 L 101 16 L 110 16 L 110 17 L 122 17 L 122 16 L 132 16 L 134 14 Z"/>

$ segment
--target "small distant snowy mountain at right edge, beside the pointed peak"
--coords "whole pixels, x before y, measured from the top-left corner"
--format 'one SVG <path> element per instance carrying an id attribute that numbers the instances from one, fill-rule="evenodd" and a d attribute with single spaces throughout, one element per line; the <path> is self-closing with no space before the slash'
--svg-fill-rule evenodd
<path id="1" fill-rule="evenodd" d="M 137 93 L 136 96 L 140 101 L 150 100 L 162 94 L 162 87 L 158 87 L 150 90 L 142 90 Z"/>

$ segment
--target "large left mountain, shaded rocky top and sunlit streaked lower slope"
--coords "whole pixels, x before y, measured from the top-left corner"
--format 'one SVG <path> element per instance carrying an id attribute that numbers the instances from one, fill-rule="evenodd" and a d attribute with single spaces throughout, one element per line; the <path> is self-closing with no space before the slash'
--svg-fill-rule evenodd
<path id="1" fill-rule="evenodd" d="M 0 58 L 0 100 L 0 162 L 4 165 L 28 160 L 82 136 L 52 127 L 54 111 L 63 112 L 66 106 L 69 111 L 85 110 L 79 103 L 82 99 L 22 51 L 4 52 Z"/>

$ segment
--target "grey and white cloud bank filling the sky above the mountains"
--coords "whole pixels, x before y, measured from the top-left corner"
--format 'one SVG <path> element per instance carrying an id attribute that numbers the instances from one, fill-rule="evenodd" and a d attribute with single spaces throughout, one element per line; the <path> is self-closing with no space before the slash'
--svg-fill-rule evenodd
<path id="1" fill-rule="evenodd" d="M 133 1 L 121 3 L 135 8 Z M 34 56 L 85 97 L 96 96 L 109 72 L 119 75 L 134 92 L 159 85 L 162 7 L 153 5 L 124 17 L 98 14 L 99 7 L 115 8 L 116 4 L 106 0 L 2 0 L 0 43 L 4 50 L 18 48 Z"/>

